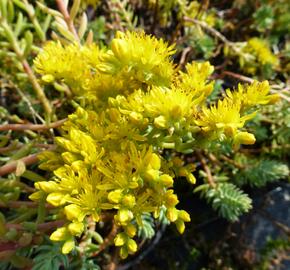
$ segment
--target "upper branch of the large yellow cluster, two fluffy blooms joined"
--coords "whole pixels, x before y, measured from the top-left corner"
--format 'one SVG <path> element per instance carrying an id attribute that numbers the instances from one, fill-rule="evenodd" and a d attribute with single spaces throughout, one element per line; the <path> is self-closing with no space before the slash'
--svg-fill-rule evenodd
<path id="1" fill-rule="evenodd" d="M 76 95 L 107 99 L 148 85 L 170 86 L 173 46 L 144 32 L 118 32 L 108 49 L 49 42 L 34 60 L 45 82 L 64 81 Z"/>

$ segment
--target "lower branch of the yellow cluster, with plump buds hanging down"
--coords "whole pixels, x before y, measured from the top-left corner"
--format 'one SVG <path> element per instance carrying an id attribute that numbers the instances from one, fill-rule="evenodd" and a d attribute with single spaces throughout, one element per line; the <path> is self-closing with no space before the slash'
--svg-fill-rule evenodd
<path id="1" fill-rule="evenodd" d="M 108 116 L 111 113 L 114 114 L 109 110 Z M 64 126 L 66 135 L 56 138 L 58 150 L 40 156 L 43 161 L 40 168 L 53 170 L 54 178 L 37 182 L 35 187 L 39 191 L 30 198 L 38 200 L 46 196 L 48 203 L 63 209 L 68 222 L 51 239 L 64 241 L 64 253 L 74 248 L 74 237 L 85 231 L 87 217 L 98 222 L 102 220 L 102 213 L 115 210 L 114 221 L 123 228 L 115 244 L 121 246 L 120 255 L 125 258 L 137 250 L 133 237 L 137 226 L 142 226 L 142 214 L 153 213 L 157 218 L 161 208 L 166 207 L 168 220 L 181 233 L 190 217 L 176 209 L 173 171 L 165 173 L 162 168 L 162 163 L 168 162 L 158 152 L 154 153 L 152 146 L 138 147 L 133 137 L 124 138 L 129 134 L 119 134 L 113 125 L 106 128 L 103 124 L 101 129 L 97 124 L 102 120 L 99 121 L 94 111 L 81 107 L 70 116 Z M 118 119 L 115 121 L 117 124 Z"/>

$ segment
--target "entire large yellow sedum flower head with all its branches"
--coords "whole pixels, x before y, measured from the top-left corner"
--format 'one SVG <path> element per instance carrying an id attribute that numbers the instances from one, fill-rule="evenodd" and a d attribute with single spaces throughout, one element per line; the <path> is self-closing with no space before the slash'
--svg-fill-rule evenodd
<path id="1" fill-rule="evenodd" d="M 173 52 L 162 40 L 127 32 L 118 33 L 110 49 L 49 43 L 36 58 L 43 80 L 64 81 L 77 96 L 89 93 L 98 101 L 79 106 L 55 139 L 57 149 L 40 156 L 40 168 L 54 176 L 37 182 L 38 191 L 30 196 L 46 199 L 66 217 L 51 235 L 64 243 L 64 253 L 86 232 L 88 219 L 102 221 L 108 212 L 119 228 L 114 243 L 122 258 L 137 250 L 134 237 L 143 214 L 157 218 L 165 209 L 183 233 L 190 217 L 176 208 L 173 183 L 185 177 L 194 184 L 195 178 L 194 166 L 178 154 L 214 140 L 255 141 L 242 129 L 253 117 L 248 109 L 275 99 L 268 84 L 239 86 L 208 107 L 213 67 L 193 62 L 178 71 L 170 59 Z M 165 159 L 164 149 L 175 155 Z"/>

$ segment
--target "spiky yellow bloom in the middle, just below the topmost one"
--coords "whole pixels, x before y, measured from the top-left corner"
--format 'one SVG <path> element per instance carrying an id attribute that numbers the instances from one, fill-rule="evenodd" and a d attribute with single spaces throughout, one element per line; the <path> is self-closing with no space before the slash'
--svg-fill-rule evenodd
<path id="1" fill-rule="evenodd" d="M 201 99 L 197 99 L 194 91 L 185 92 L 182 88 L 152 87 L 147 93 L 137 90 L 127 98 L 117 96 L 110 99 L 110 104 L 117 107 L 120 113 L 129 115 L 142 115 L 139 117 L 140 127 L 152 124 L 157 129 L 182 130 L 184 126 L 194 124 L 197 114 L 197 105 Z M 203 97 L 202 97 L 203 98 Z"/>

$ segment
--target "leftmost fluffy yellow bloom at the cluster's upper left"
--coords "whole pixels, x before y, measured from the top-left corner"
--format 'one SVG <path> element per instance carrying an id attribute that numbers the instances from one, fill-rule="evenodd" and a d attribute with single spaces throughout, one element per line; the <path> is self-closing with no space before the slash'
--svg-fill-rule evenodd
<path id="1" fill-rule="evenodd" d="M 96 45 L 81 46 L 60 42 L 48 42 L 43 51 L 34 59 L 35 71 L 45 82 L 64 81 L 74 94 L 90 92 L 88 81 L 95 76 L 95 66 L 103 52 Z"/>

